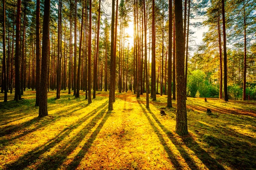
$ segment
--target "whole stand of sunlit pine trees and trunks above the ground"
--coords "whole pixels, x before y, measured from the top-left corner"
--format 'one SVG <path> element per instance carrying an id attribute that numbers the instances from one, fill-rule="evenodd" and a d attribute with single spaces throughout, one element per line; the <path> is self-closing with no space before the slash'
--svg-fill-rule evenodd
<path id="1" fill-rule="evenodd" d="M 39 117 L 47 115 L 47 90 L 56 99 L 66 88 L 76 98 L 84 91 L 89 104 L 91 90 L 93 99 L 109 90 L 110 111 L 116 91 L 146 93 L 147 108 L 149 94 L 153 101 L 167 94 L 168 108 L 177 99 L 176 132 L 186 135 L 186 96 L 221 99 L 224 88 L 225 101 L 256 98 L 255 0 L 44 3 L 6 0 L 1 7 L 1 92 L 7 101 L 15 88 L 19 101 L 36 90 Z M 208 31 L 193 45 L 200 26 Z"/>

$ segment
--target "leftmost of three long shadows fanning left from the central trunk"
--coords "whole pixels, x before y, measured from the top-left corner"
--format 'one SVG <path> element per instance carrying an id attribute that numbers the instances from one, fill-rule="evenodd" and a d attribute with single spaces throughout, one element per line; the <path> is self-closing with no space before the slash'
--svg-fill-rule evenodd
<path id="1" fill-rule="evenodd" d="M 6 164 L 5 168 L 7 170 L 13 170 L 13 169 L 24 169 L 26 168 L 29 164 L 33 164 L 36 161 L 38 161 L 39 157 L 41 155 L 43 155 L 46 152 L 49 152 L 51 150 L 51 148 L 55 147 L 57 144 L 59 144 L 63 139 L 65 139 L 67 136 L 70 135 L 70 133 L 76 129 L 77 127 L 79 127 L 80 125 L 82 125 L 87 119 L 89 119 L 91 116 L 93 116 L 95 113 L 97 113 L 99 110 L 101 110 L 102 108 L 104 108 L 106 105 L 108 104 L 108 101 L 106 101 L 104 104 L 102 104 L 101 106 L 99 106 L 98 108 L 94 109 L 93 111 L 91 111 L 90 113 L 88 113 L 86 116 L 82 117 L 81 119 L 79 119 L 76 123 L 74 123 L 73 125 L 70 125 L 69 127 L 64 128 L 57 136 L 55 136 L 53 139 L 50 139 L 47 143 L 45 143 L 44 145 L 38 146 L 36 147 L 34 150 L 29 151 L 28 153 L 24 154 L 23 156 L 21 156 L 17 161 L 12 162 L 11 164 Z M 97 118 L 94 118 L 94 121 L 96 121 L 97 119 L 100 119 L 101 113 L 99 113 L 97 116 Z M 93 120 L 92 120 L 93 121 Z M 96 123 L 96 122 L 95 122 Z M 91 124 L 92 125 L 92 124 Z M 88 125 L 86 126 L 88 128 L 90 128 Z M 76 136 L 75 136 L 76 137 Z M 76 138 L 78 139 L 79 136 Z M 73 142 L 76 142 L 75 139 Z M 69 143 L 66 143 L 65 146 L 67 146 Z M 65 148 L 65 147 L 64 147 Z M 70 147 L 68 147 L 69 150 L 71 150 Z M 67 149 L 65 149 L 67 152 Z M 71 150 L 72 151 L 72 150 Z M 59 154 L 62 154 L 59 153 Z M 50 156 L 51 158 L 52 156 Z M 49 158 L 49 160 L 50 160 Z M 48 165 L 44 164 L 45 166 L 50 166 L 52 165 L 52 161 L 47 161 Z M 46 162 L 45 162 L 46 163 Z M 41 167 L 43 168 L 43 167 Z M 53 167 L 52 167 L 53 168 Z M 52 169 L 50 168 L 50 169 Z M 45 167 L 44 169 L 49 169 L 47 167 Z M 56 167 L 55 167 L 56 169 Z"/>

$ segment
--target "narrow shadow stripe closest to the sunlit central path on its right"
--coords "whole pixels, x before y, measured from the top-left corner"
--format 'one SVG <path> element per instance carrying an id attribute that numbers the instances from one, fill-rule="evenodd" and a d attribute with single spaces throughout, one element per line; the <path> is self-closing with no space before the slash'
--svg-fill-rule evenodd
<path id="1" fill-rule="evenodd" d="M 143 112 L 145 113 L 145 116 L 148 119 L 148 122 L 150 123 L 150 125 L 152 126 L 152 128 L 154 129 L 154 132 L 157 134 L 157 137 L 159 138 L 161 144 L 163 145 L 164 150 L 166 150 L 169 159 L 172 161 L 173 166 L 175 167 L 175 169 L 184 169 L 184 167 L 180 164 L 180 162 L 177 160 L 177 158 L 175 158 L 172 150 L 168 147 L 166 141 L 163 139 L 162 134 L 159 132 L 159 130 L 157 129 L 157 127 L 154 125 L 154 122 L 152 122 L 152 120 L 150 119 L 150 117 L 148 116 L 148 113 L 146 112 L 145 108 L 143 108 L 142 106 L 142 102 L 140 102 L 139 100 L 137 100 L 138 104 L 140 105 L 140 108 L 143 110 Z"/>

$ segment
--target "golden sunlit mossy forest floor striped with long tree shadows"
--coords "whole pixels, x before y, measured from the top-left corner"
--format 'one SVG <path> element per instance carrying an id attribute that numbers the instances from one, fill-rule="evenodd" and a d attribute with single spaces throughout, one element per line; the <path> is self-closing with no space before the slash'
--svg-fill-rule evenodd
<path id="1" fill-rule="evenodd" d="M 108 112 L 108 92 L 90 105 L 83 91 L 79 99 L 61 91 L 55 100 L 55 93 L 44 118 L 35 91 L 20 102 L 11 94 L 4 103 L 0 94 L 0 169 L 256 169 L 256 101 L 188 98 L 189 135 L 180 137 L 176 102 L 167 109 L 167 96 L 146 109 L 145 95 L 116 93 Z"/>

